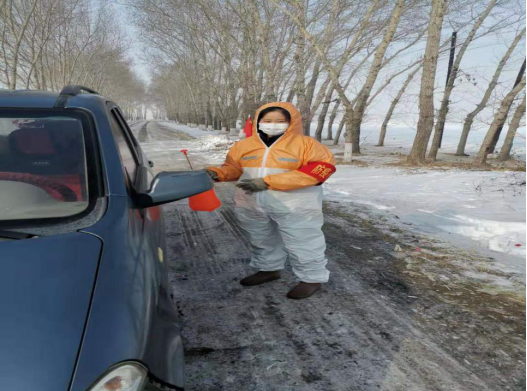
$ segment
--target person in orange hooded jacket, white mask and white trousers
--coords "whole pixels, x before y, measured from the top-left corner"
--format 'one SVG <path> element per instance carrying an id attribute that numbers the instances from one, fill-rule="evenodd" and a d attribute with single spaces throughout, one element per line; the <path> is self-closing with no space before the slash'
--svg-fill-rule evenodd
<path id="1" fill-rule="evenodd" d="M 254 118 L 252 136 L 207 172 L 216 181 L 239 180 L 235 215 L 251 244 L 250 265 L 258 269 L 240 283 L 279 279 L 289 258 L 300 282 L 287 297 L 307 298 L 329 278 L 320 185 L 335 172 L 335 158 L 303 135 L 300 112 L 291 103 L 268 103 Z"/>

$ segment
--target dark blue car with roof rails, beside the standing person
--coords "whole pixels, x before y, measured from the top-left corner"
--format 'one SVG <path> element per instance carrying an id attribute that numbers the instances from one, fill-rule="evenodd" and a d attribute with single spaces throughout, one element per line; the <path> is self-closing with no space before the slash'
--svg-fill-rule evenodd
<path id="1" fill-rule="evenodd" d="M 88 88 L 0 91 L 2 390 L 183 388 L 158 205 L 212 182 L 151 165 Z"/>

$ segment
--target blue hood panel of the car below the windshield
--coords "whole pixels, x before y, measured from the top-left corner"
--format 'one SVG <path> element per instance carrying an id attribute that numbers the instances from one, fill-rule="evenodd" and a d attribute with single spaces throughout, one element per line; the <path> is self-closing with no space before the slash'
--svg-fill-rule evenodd
<path id="1" fill-rule="evenodd" d="M 79 232 L 0 242 L 2 389 L 69 389 L 101 250 Z"/>

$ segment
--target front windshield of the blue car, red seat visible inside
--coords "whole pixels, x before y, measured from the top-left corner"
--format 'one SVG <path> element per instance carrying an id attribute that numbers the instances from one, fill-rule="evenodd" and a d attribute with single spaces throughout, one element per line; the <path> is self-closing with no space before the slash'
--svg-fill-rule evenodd
<path id="1" fill-rule="evenodd" d="M 82 122 L 0 114 L 0 220 L 68 217 L 88 205 Z"/>

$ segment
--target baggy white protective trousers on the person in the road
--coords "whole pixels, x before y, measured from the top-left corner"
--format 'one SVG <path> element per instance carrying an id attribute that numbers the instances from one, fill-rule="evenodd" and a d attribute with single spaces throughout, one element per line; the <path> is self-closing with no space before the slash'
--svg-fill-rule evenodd
<path id="1" fill-rule="evenodd" d="M 255 193 L 250 197 L 256 202 L 247 202 L 247 195 L 237 194 L 235 215 L 250 241 L 251 266 L 261 271 L 281 270 L 289 258 L 300 281 L 328 281 L 326 241 L 322 232 L 322 192 L 320 189 L 318 202 L 318 190 L 300 191 L 297 194 L 300 199 L 311 193 L 310 202 L 294 202 L 294 205 L 280 202 L 283 195 L 276 193 L 283 192 Z M 287 193 L 286 197 L 298 201 L 294 192 Z"/>

